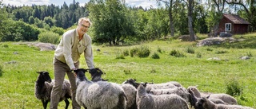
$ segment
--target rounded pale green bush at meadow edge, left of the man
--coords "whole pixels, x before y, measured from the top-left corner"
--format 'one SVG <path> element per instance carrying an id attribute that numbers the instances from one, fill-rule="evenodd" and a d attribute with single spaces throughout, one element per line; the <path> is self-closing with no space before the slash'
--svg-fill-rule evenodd
<path id="1" fill-rule="evenodd" d="M 59 39 L 58 33 L 45 32 L 45 33 L 40 33 L 38 35 L 38 41 L 40 41 L 40 42 L 58 44 L 58 42 L 59 42 L 58 39 Z"/>

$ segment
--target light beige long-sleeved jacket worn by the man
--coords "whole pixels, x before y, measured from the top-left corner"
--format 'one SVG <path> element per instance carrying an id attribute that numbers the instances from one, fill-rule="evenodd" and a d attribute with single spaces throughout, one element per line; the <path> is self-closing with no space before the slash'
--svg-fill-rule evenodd
<path id="1" fill-rule="evenodd" d="M 83 35 L 82 40 L 79 41 L 77 29 L 71 29 L 62 35 L 62 40 L 55 50 L 54 57 L 66 63 L 72 69 L 82 53 L 84 53 L 88 68 L 94 68 L 90 36 L 86 33 Z"/>

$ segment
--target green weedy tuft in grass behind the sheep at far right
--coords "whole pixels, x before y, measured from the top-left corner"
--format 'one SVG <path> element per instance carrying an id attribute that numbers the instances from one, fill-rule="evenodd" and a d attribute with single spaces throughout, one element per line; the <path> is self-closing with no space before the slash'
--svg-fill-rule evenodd
<path id="1" fill-rule="evenodd" d="M 242 85 L 239 84 L 238 80 L 236 79 L 231 79 L 226 82 L 226 94 L 229 95 L 242 95 Z"/>

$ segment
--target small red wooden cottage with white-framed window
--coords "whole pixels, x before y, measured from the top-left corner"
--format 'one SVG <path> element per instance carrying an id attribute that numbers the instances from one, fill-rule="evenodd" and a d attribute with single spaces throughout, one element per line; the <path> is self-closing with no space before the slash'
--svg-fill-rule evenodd
<path id="1" fill-rule="evenodd" d="M 219 23 L 218 34 L 227 32 L 232 34 L 243 34 L 248 32 L 250 22 L 233 14 L 223 14 L 223 18 Z"/>

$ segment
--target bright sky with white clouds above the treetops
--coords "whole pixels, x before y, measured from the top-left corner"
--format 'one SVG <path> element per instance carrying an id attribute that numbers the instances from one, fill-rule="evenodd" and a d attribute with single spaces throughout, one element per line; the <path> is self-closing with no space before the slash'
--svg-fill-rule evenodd
<path id="1" fill-rule="evenodd" d="M 35 5 L 50 5 L 54 4 L 56 6 L 62 6 L 64 2 L 66 2 L 67 5 L 70 5 L 74 0 L 2 0 L 3 4 L 10 4 L 14 6 L 32 6 L 32 4 Z M 84 5 L 86 2 L 89 2 L 89 0 L 75 0 L 75 2 L 79 2 L 80 5 Z M 126 0 L 126 3 L 130 6 L 142 6 L 143 8 L 150 8 L 150 6 L 153 6 L 154 8 L 157 7 L 156 0 Z"/>

